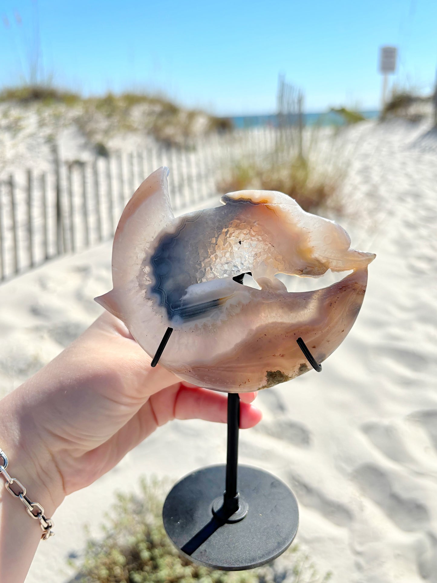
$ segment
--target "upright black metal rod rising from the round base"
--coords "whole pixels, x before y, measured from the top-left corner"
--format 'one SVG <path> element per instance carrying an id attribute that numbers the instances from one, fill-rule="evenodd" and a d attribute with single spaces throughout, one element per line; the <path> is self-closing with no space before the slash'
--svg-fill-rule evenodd
<path id="1" fill-rule="evenodd" d="M 238 431 L 239 395 L 238 393 L 228 393 L 228 449 L 226 459 L 226 489 L 224 493 L 224 505 L 236 505 L 237 508 Z"/>

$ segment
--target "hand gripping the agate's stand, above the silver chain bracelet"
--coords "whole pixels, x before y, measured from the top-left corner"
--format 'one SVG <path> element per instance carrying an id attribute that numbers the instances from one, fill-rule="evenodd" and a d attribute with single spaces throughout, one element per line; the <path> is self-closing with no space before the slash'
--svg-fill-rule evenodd
<path id="1" fill-rule="evenodd" d="M 0 402 L 0 446 L 46 515 L 93 483 L 172 419 L 225 423 L 224 394 L 180 381 L 107 312 L 64 352 Z M 241 427 L 261 413 L 241 395 Z"/>

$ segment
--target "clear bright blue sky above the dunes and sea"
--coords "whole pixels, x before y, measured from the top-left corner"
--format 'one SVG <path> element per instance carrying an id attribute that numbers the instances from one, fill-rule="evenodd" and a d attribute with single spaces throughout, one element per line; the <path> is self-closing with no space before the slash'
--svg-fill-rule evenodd
<path id="1" fill-rule="evenodd" d="M 399 83 L 431 90 L 437 1 L 0 0 L 0 86 L 39 55 L 40 75 L 85 94 L 160 91 L 223 115 L 273 113 L 279 73 L 306 111 L 378 108 L 382 44 L 399 46 Z"/>

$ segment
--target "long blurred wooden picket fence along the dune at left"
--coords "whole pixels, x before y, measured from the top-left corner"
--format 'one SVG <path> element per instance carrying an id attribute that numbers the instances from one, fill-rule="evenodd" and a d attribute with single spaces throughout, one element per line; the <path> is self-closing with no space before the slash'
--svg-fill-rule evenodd
<path id="1" fill-rule="evenodd" d="M 0 281 L 52 258 L 114 236 L 126 202 L 156 168 L 170 168 L 178 212 L 217 196 L 232 163 L 255 160 L 274 146 L 278 130 L 252 128 L 203 138 L 192 149 L 153 146 L 94 160 L 54 155 L 52 170 L 3 173 L 0 179 Z"/>

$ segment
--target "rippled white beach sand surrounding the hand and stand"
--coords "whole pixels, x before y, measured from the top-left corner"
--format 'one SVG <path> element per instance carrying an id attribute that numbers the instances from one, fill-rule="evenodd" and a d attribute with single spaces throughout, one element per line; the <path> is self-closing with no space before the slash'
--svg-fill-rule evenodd
<path id="1" fill-rule="evenodd" d="M 297 542 L 320 573 L 347 583 L 437 582 L 437 138 L 427 124 L 368 122 L 345 192 L 353 245 L 376 252 L 357 323 L 323 364 L 258 397 L 264 419 L 241 432 L 241 462 L 275 473 L 300 508 Z M 364 209 L 364 210 L 363 210 Z M 361 219 L 360 212 L 363 213 Z M 323 281 L 323 280 L 322 280 Z M 51 262 L 0 287 L 0 386 L 9 391 L 100 313 L 110 244 Z M 66 583 L 114 490 L 140 475 L 178 479 L 225 459 L 225 427 L 173 422 L 110 473 L 69 496 L 57 535 L 26 583 Z"/>

